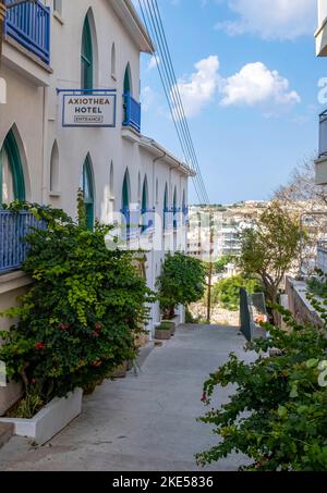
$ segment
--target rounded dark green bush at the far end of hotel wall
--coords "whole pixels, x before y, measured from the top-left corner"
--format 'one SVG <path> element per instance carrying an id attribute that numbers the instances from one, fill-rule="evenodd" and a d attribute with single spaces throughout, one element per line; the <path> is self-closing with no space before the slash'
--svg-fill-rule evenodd
<path id="1" fill-rule="evenodd" d="M 169 318 L 177 305 L 201 299 L 205 293 L 206 268 L 184 254 L 168 254 L 157 280 L 161 309 Z"/>

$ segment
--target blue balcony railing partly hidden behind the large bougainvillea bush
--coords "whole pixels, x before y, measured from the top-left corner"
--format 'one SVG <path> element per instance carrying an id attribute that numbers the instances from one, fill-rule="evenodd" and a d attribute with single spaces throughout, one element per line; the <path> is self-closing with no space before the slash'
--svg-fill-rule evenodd
<path id="1" fill-rule="evenodd" d="M 28 252 L 24 237 L 32 227 L 44 229 L 45 223 L 31 212 L 0 210 L 0 274 L 20 269 Z"/>

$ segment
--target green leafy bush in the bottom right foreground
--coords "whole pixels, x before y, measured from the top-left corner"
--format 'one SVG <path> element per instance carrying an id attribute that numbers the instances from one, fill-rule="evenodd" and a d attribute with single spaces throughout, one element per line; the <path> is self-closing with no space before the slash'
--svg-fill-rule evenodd
<path id="1" fill-rule="evenodd" d="M 326 309 L 315 305 L 326 322 Z M 278 309 L 291 332 L 266 324 L 270 337 L 250 346 L 257 354 L 254 362 L 231 354 L 205 383 L 207 405 L 216 386 L 233 384 L 238 390 L 228 404 L 201 418 L 221 436 L 217 445 L 197 455 L 201 465 L 237 452 L 253 460 L 241 468 L 245 470 L 327 470 L 326 325 L 324 330 L 299 325 L 290 312 Z M 272 348 L 279 352 L 270 356 Z"/>

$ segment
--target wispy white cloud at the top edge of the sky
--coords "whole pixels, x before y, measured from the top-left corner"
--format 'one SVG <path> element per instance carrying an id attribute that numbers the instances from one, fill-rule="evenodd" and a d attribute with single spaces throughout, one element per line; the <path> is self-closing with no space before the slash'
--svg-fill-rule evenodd
<path id="1" fill-rule="evenodd" d="M 229 0 L 239 16 L 216 25 L 229 35 L 251 33 L 264 39 L 294 39 L 313 35 L 316 27 L 316 0 Z"/>

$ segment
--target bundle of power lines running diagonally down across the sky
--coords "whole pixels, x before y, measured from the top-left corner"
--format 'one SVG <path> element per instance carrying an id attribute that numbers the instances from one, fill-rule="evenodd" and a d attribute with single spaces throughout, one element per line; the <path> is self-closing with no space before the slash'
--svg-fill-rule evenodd
<path id="1" fill-rule="evenodd" d="M 169 104 L 171 118 L 177 130 L 179 141 L 185 161 L 196 172 L 193 177 L 195 192 L 199 202 L 209 204 L 208 194 L 205 188 L 198 160 L 194 149 L 189 123 L 185 116 L 175 72 L 173 69 L 170 51 L 165 34 L 164 23 L 160 15 L 157 0 L 138 0 L 142 16 L 146 29 L 155 46 L 155 60 L 160 75 L 164 91 Z"/>

